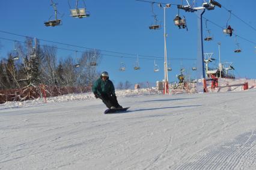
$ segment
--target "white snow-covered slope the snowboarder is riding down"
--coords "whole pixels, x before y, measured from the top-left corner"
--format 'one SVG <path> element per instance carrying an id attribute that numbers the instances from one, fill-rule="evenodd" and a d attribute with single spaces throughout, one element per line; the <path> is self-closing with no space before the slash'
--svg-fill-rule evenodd
<path id="1" fill-rule="evenodd" d="M 241 88 L 242 89 L 242 88 Z M 256 169 L 256 90 L 117 91 L 0 105 L 0 169 Z"/>

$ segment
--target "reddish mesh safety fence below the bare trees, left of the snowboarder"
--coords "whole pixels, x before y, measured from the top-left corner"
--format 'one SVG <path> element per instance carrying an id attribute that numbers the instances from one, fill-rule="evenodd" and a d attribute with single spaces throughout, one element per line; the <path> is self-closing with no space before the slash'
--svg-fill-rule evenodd
<path id="1" fill-rule="evenodd" d="M 24 101 L 37 99 L 38 97 L 61 96 L 72 93 L 85 93 L 91 91 L 91 87 L 48 87 L 46 85 L 39 85 L 37 87 L 25 87 L 10 90 L 0 90 L 0 104 L 7 101 Z"/>

